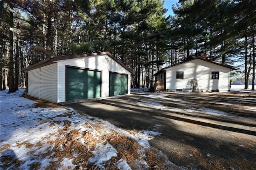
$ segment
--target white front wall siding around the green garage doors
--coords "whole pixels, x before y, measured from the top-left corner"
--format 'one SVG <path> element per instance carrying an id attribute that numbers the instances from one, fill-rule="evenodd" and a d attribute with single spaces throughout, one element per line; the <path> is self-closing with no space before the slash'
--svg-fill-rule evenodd
<path id="1" fill-rule="evenodd" d="M 107 60 L 105 59 L 107 58 Z M 92 57 L 84 57 L 78 59 L 66 59 L 59 60 L 58 62 L 58 74 L 59 74 L 59 82 L 58 82 L 58 90 L 59 90 L 59 98 L 58 102 L 66 101 L 65 97 L 65 80 L 66 80 L 66 65 L 81 67 L 87 69 L 97 69 L 102 71 L 102 97 L 109 96 L 109 72 L 116 73 L 124 73 L 128 74 L 128 94 L 130 94 L 130 72 L 114 61 L 108 55 L 98 55 Z"/>

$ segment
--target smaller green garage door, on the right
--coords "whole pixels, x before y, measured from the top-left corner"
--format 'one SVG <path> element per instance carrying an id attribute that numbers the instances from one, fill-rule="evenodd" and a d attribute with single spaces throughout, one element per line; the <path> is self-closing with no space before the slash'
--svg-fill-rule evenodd
<path id="1" fill-rule="evenodd" d="M 127 76 L 128 75 L 110 73 L 109 75 L 110 96 L 124 95 L 127 93 Z"/>

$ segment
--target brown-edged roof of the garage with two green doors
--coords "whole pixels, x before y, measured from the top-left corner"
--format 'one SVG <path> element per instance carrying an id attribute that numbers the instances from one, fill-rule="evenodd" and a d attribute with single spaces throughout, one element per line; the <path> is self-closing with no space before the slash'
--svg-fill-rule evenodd
<path id="1" fill-rule="evenodd" d="M 97 56 L 97 55 L 108 55 L 110 58 L 114 59 L 117 63 L 122 65 L 125 69 L 127 69 L 130 73 L 133 73 L 133 71 L 128 68 L 124 63 L 119 61 L 116 57 L 114 57 L 110 52 L 100 52 L 100 53 L 90 53 L 90 54 L 80 54 L 80 55 L 69 55 L 69 56 L 63 56 L 63 57 L 53 57 L 53 58 L 48 58 L 44 61 L 40 61 L 39 63 L 36 63 L 34 65 L 31 65 L 25 69 L 22 69 L 21 71 L 30 71 L 33 69 L 37 69 L 46 65 L 50 65 L 55 63 L 54 61 L 60 61 L 60 60 L 65 60 L 65 59 L 77 59 L 77 58 L 82 58 L 82 57 L 92 57 L 92 56 Z"/>

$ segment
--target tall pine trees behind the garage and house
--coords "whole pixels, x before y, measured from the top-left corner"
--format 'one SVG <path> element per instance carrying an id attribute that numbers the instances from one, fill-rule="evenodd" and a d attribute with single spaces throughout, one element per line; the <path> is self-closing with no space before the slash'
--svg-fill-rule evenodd
<path id="1" fill-rule="evenodd" d="M 1 90 L 24 87 L 20 70 L 49 57 L 110 51 L 149 87 L 162 67 L 197 57 L 236 64 L 245 89 L 255 81 L 256 3 L 161 0 L 0 1 Z M 142 84 L 141 84 L 142 82 Z"/>

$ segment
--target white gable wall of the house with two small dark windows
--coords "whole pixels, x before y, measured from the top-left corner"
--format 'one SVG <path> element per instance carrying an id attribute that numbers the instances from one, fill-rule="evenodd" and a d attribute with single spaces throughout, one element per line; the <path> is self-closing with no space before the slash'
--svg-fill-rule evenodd
<path id="1" fill-rule="evenodd" d="M 184 72 L 184 79 L 176 79 L 176 71 Z M 219 71 L 219 79 L 212 79 L 212 71 Z M 194 59 L 180 65 L 166 69 L 166 89 L 176 91 L 176 89 L 185 89 L 188 80 L 197 79 L 199 91 L 220 91 L 229 90 L 229 71 L 230 69 L 203 61 Z"/>

